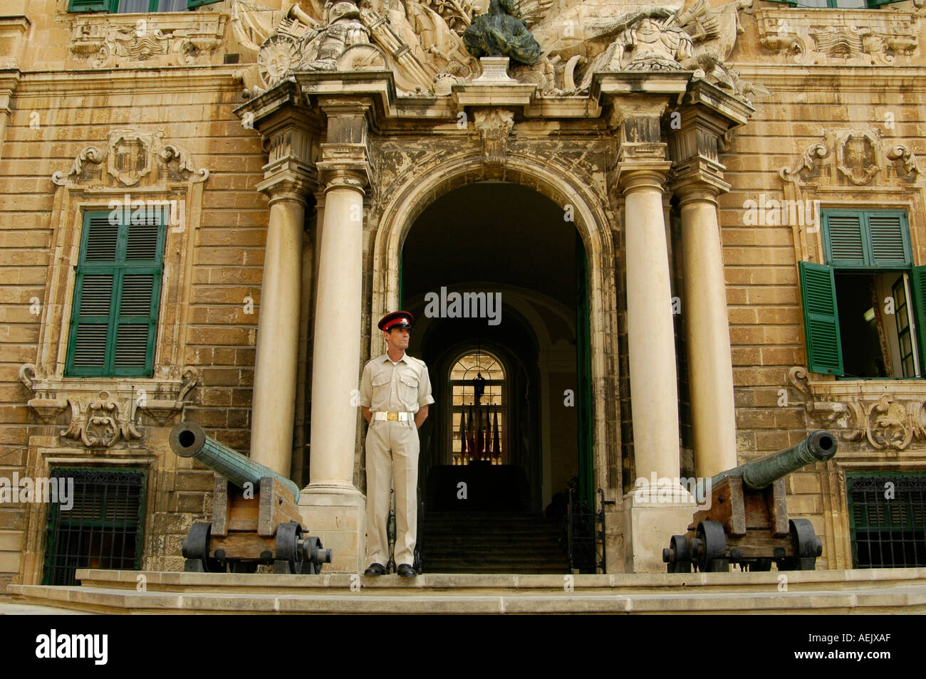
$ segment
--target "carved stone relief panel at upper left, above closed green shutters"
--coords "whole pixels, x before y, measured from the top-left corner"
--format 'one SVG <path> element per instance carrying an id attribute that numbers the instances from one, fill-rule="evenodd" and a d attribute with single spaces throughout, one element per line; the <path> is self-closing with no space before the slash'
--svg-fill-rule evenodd
<path id="1" fill-rule="evenodd" d="M 70 51 L 92 68 L 139 64 L 187 66 L 206 62 L 221 46 L 227 16 L 217 12 L 169 15 L 100 14 L 71 21 Z"/>

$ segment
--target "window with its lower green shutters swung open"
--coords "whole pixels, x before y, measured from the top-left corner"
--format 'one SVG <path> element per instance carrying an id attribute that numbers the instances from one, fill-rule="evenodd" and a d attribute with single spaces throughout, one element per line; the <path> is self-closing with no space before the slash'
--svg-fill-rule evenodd
<path id="1" fill-rule="evenodd" d="M 920 377 L 926 267 L 902 210 L 824 210 L 826 264 L 799 263 L 807 367 L 852 378 Z"/>

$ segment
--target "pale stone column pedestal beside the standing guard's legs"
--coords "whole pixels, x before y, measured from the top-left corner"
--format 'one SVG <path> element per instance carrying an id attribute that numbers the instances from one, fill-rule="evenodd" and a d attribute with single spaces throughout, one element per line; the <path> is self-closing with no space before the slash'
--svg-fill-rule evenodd
<path id="1" fill-rule="evenodd" d="M 361 573 L 367 550 L 367 499 L 357 488 L 303 488 L 299 513 L 310 536 L 332 550 L 324 573 Z"/>

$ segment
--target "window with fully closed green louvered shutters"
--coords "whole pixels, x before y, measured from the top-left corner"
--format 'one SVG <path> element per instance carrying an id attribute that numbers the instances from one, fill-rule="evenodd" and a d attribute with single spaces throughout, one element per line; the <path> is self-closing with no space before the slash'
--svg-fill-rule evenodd
<path id="1" fill-rule="evenodd" d="M 84 214 L 66 375 L 153 377 L 167 222 L 161 209 Z"/>

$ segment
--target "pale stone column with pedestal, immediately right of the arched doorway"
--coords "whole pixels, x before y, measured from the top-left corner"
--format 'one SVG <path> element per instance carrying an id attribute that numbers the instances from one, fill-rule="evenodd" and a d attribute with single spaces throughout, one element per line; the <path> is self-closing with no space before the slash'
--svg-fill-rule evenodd
<path id="1" fill-rule="evenodd" d="M 679 396 L 658 118 L 626 117 L 619 152 L 627 262 L 627 330 L 633 459 L 637 479 L 624 496 L 625 570 L 665 571 L 662 549 L 684 532 L 694 503 L 679 484 Z"/>

